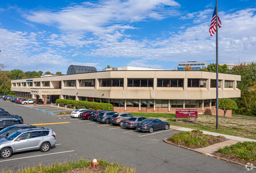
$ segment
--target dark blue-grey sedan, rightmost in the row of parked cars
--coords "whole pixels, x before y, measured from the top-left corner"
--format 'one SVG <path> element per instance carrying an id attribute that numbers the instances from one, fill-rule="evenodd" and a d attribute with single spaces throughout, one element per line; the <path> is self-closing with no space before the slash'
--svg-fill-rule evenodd
<path id="1" fill-rule="evenodd" d="M 147 131 L 152 133 L 154 130 L 169 129 L 170 124 L 163 122 L 160 119 L 145 119 L 142 122 L 137 123 L 136 130 Z"/>

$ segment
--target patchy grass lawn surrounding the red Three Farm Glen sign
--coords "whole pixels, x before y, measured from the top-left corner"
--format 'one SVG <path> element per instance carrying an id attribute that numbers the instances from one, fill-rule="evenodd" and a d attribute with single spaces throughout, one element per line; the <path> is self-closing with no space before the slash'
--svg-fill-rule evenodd
<path id="1" fill-rule="evenodd" d="M 167 121 L 170 125 L 187 127 L 208 132 L 216 132 L 232 136 L 256 139 L 256 120 L 242 119 L 219 116 L 219 129 L 216 130 L 216 116 L 199 114 L 196 123 L 180 124 L 176 123 L 175 114 L 163 113 L 131 113 L 134 116 L 142 116 L 146 118 L 158 118 Z M 179 120 L 193 120 L 189 118 L 179 118 Z"/>

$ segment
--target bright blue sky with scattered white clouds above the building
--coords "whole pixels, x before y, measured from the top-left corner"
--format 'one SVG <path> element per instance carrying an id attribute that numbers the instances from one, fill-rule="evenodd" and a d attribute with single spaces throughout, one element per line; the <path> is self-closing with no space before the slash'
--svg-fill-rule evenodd
<path id="1" fill-rule="evenodd" d="M 209 33 L 215 1 L 0 1 L 0 63 L 6 70 L 69 65 L 177 69 L 215 62 Z M 256 57 L 255 0 L 218 1 L 219 63 Z"/>

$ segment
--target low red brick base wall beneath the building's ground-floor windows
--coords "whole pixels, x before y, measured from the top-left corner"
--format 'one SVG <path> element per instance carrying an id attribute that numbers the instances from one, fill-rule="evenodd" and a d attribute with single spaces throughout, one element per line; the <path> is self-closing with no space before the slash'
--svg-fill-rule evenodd
<path id="1" fill-rule="evenodd" d="M 116 112 L 143 112 L 143 113 L 174 113 L 176 109 L 182 109 L 182 108 L 170 108 L 170 111 L 168 111 L 167 107 L 156 107 L 155 111 L 152 107 L 141 107 L 140 111 L 138 107 L 127 107 L 126 111 L 124 111 L 124 107 L 114 107 L 114 111 Z M 185 108 L 185 109 L 195 109 L 195 108 Z M 216 108 L 212 106 L 212 109 L 210 107 L 204 107 L 204 110 L 202 111 L 202 108 L 197 108 L 198 113 L 202 114 L 208 114 L 208 115 L 216 115 Z M 223 116 L 224 111 L 219 109 L 219 116 Z M 228 110 L 226 112 L 227 117 L 231 117 L 232 111 Z"/>

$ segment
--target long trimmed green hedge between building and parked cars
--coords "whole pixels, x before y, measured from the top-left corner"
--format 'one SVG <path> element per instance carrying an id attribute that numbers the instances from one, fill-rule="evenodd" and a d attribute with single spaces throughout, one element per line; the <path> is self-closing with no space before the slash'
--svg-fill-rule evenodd
<path id="1" fill-rule="evenodd" d="M 79 101 L 79 100 L 68 100 L 68 99 L 57 99 L 56 104 L 71 104 L 72 107 L 84 107 L 86 109 L 95 109 L 95 110 L 113 110 L 113 105 L 109 103 L 98 103 L 98 102 L 88 102 L 88 101 Z"/>

